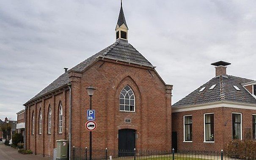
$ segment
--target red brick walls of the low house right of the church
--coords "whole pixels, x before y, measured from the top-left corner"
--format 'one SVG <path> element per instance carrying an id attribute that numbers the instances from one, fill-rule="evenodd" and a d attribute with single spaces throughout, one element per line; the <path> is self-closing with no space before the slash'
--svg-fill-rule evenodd
<path id="1" fill-rule="evenodd" d="M 210 108 L 195 111 L 172 113 L 173 132 L 177 132 L 178 150 L 220 151 L 225 149 L 232 139 L 232 112 L 242 113 L 242 137 L 245 137 L 245 128 L 252 127 L 252 114 L 256 110 L 239 108 Z M 215 143 L 204 143 L 204 114 L 214 113 L 215 116 Z M 193 142 L 183 142 L 183 116 L 192 115 Z"/>

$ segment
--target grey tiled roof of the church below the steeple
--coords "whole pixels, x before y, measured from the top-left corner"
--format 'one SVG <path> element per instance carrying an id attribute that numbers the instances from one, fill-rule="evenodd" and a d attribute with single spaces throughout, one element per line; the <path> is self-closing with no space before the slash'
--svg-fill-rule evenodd
<path id="1" fill-rule="evenodd" d="M 88 59 L 84 60 L 80 64 L 74 66 L 71 70 L 81 72 L 87 68 L 92 62 L 96 60 L 97 57 L 106 57 L 116 60 L 123 60 L 126 62 L 136 63 L 139 65 L 146 65 L 149 67 L 154 67 L 145 57 L 143 57 L 140 52 L 138 52 L 131 44 L 126 40 L 118 39 L 115 43 L 103 49 L 102 51 L 94 54 Z M 63 73 L 55 81 L 45 87 L 41 92 L 31 98 L 28 102 L 39 98 L 40 96 L 51 92 L 54 89 L 63 87 L 69 83 L 69 73 Z M 28 103 L 27 102 L 27 103 Z"/>

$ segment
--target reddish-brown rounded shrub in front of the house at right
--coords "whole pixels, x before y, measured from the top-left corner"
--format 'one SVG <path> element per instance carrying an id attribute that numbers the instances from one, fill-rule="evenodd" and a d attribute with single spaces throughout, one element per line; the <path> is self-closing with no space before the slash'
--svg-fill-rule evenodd
<path id="1" fill-rule="evenodd" d="M 230 141 L 225 149 L 228 157 L 255 160 L 256 159 L 256 141 L 253 140 L 233 140 Z"/>

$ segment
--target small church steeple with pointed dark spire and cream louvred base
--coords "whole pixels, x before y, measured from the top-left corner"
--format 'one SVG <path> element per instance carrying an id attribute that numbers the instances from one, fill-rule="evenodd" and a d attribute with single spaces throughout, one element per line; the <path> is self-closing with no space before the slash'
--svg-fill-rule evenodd
<path id="1" fill-rule="evenodd" d="M 121 8 L 118 16 L 118 21 L 116 24 L 116 40 L 118 39 L 128 40 L 128 26 L 124 18 L 122 0 L 121 0 Z"/>

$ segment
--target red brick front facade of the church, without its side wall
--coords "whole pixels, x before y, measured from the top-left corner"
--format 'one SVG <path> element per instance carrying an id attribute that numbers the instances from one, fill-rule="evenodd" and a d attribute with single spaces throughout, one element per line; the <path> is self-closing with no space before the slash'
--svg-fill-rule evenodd
<path id="1" fill-rule="evenodd" d="M 92 97 L 97 129 L 93 131 L 94 149 L 118 149 L 118 127 L 136 129 L 137 149 L 171 148 L 171 96 L 154 71 L 114 62 L 96 62 L 83 74 L 72 78 L 72 145 L 89 146 L 85 129 L 89 96 L 86 88 L 97 87 Z M 151 74 L 153 76 L 151 76 Z M 81 79 L 77 78 L 80 76 Z M 135 113 L 119 111 L 119 95 L 129 85 L 135 93 Z M 170 94 L 171 95 L 171 94 Z M 124 122 L 125 118 L 131 123 Z M 165 142 L 165 143 L 163 143 Z"/>

